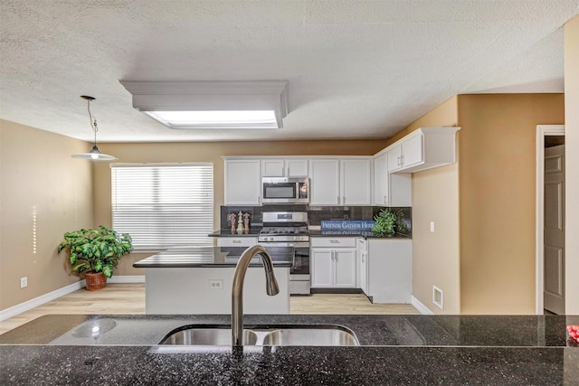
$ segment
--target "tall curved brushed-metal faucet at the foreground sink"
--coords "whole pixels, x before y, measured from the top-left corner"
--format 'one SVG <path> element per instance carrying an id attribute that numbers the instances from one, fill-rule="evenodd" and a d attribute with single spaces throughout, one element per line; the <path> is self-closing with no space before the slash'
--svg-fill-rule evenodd
<path id="1" fill-rule="evenodd" d="M 245 272 L 256 254 L 261 255 L 263 268 L 265 269 L 265 289 L 269 296 L 278 295 L 280 287 L 273 273 L 273 262 L 270 253 L 261 245 L 254 245 L 245 249 L 242 257 L 237 261 L 235 273 L 233 273 L 232 289 L 232 344 L 233 346 L 243 345 L 243 279 Z"/>

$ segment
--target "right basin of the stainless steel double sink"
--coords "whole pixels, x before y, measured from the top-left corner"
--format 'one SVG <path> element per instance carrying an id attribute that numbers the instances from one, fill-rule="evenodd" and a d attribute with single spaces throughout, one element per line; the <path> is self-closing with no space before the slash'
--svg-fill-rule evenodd
<path id="1" fill-rule="evenodd" d="M 357 346 L 356 335 L 338 328 L 280 328 L 263 337 L 264 346 Z"/>

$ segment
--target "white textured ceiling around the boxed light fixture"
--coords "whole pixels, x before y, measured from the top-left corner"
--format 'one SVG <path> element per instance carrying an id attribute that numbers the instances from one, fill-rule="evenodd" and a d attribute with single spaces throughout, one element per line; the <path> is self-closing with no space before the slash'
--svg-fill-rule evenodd
<path id="1" fill-rule="evenodd" d="M 385 138 L 456 94 L 563 92 L 579 0 L 0 1 L 0 118 L 99 142 Z M 171 130 L 119 80 L 288 80 L 278 130 Z"/>

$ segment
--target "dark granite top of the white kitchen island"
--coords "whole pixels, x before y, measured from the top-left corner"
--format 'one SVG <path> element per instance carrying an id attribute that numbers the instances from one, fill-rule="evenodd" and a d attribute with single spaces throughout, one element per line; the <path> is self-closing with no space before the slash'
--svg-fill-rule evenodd
<path id="1" fill-rule="evenodd" d="M 166 249 L 147 259 L 133 263 L 135 268 L 218 268 L 235 267 L 246 247 L 180 247 Z M 268 248 L 273 265 L 291 267 L 293 248 Z M 255 256 L 250 267 L 262 266 L 261 258 Z"/>

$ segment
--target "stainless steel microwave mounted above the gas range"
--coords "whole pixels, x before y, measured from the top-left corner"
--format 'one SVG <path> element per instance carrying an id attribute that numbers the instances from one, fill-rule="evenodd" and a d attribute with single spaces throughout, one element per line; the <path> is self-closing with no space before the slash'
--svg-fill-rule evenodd
<path id="1" fill-rule="evenodd" d="M 309 178 L 261 178 L 262 203 L 309 203 Z"/>

